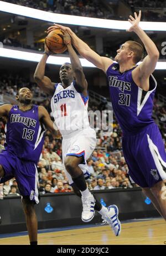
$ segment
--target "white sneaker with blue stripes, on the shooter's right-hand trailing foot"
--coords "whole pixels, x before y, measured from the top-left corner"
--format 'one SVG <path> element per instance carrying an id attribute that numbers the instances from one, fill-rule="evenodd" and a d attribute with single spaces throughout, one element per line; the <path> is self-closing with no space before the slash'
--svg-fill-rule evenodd
<path id="1" fill-rule="evenodd" d="M 107 215 L 105 215 L 105 217 L 102 217 L 103 224 L 108 223 L 111 226 L 113 233 L 118 236 L 121 233 L 121 222 L 118 219 L 118 207 L 113 204 L 110 205 L 107 209 Z"/>

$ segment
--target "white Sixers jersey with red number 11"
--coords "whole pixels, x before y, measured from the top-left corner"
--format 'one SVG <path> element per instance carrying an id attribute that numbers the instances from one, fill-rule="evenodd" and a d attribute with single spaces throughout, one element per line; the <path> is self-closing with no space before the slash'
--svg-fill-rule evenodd
<path id="1" fill-rule="evenodd" d="M 61 83 L 55 84 L 55 93 L 51 99 L 53 117 L 63 136 L 90 128 L 87 113 L 89 98 L 77 92 L 75 85 L 76 81 L 73 81 L 64 89 Z"/>

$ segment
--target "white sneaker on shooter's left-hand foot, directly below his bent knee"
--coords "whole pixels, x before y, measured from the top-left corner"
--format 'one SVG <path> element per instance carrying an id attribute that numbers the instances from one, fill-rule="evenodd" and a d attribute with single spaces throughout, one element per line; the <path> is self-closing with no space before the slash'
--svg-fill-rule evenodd
<path id="1" fill-rule="evenodd" d="M 90 222 L 95 216 L 95 198 L 92 194 L 89 197 L 81 197 L 82 199 L 82 222 Z"/>

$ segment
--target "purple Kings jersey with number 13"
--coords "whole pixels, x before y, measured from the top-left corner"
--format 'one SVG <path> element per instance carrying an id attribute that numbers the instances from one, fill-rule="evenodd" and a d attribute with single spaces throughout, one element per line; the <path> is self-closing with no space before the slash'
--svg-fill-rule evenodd
<path id="1" fill-rule="evenodd" d="M 5 128 L 4 147 L 18 158 L 38 162 L 44 143 L 45 129 L 40 124 L 38 106 L 21 111 L 13 106 Z"/>

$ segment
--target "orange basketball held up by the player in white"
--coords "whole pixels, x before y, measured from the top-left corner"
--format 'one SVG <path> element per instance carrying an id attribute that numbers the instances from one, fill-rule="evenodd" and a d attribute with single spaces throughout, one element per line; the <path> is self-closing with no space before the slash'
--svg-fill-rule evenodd
<path id="1" fill-rule="evenodd" d="M 54 53 L 63 53 L 66 51 L 67 47 L 64 44 L 63 37 L 59 36 L 59 34 L 63 34 L 60 29 L 54 29 L 45 38 L 45 43 L 49 51 Z"/>

